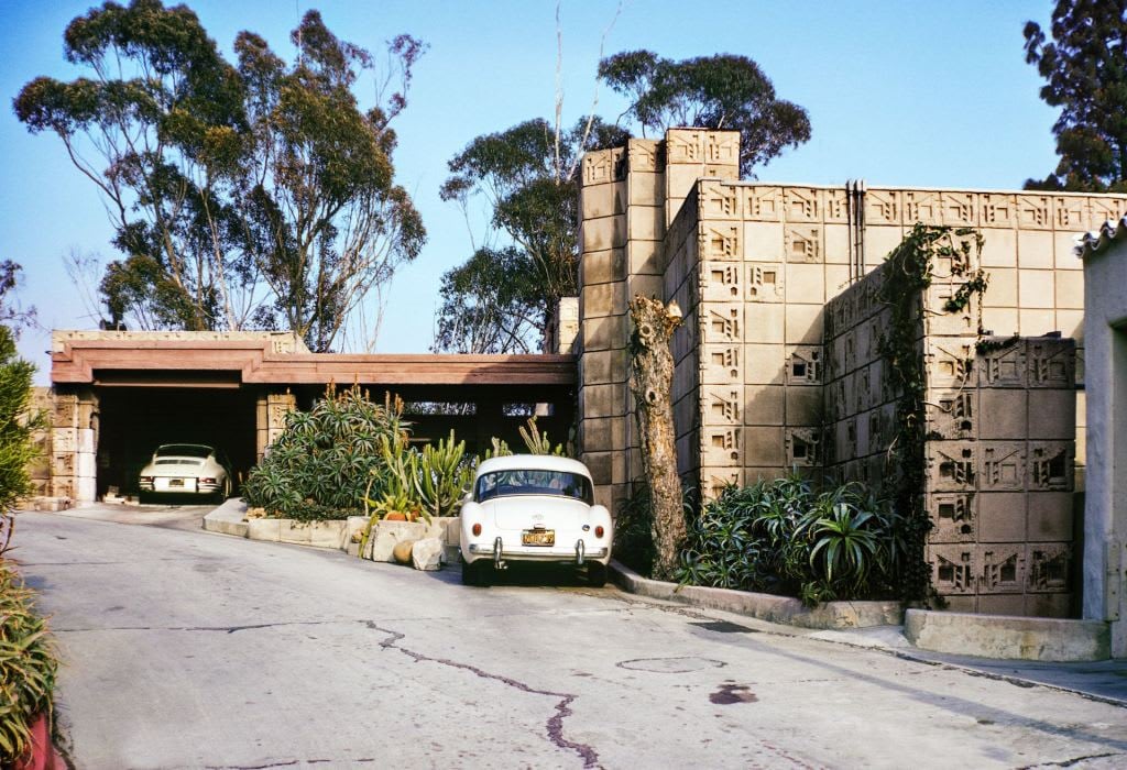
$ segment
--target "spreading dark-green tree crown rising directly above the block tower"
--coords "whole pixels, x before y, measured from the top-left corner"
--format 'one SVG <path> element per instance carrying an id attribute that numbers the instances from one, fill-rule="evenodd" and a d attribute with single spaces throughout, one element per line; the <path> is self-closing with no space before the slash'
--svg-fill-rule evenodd
<path id="1" fill-rule="evenodd" d="M 744 176 L 810 138 L 806 110 L 777 98 L 771 80 L 747 56 L 673 61 L 651 51 L 624 51 L 600 62 L 598 77 L 630 100 L 622 116 L 637 120 L 644 135 L 675 126 L 738 131 Z"/>

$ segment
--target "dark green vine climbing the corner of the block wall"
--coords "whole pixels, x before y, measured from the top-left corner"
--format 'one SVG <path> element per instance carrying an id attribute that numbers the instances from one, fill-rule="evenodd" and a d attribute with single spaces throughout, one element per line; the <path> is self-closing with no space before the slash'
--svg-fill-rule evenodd
<path id="1" fill-rule="evenodd" d="M 889 447 L 893 496 L 904 517 L 904 540 L 907 546 L 902 576 L 903 596 L 908 601 L 931 599 L 931 568 L 924 547 L 932 528 L 924 504 L 926 481 L 925 445 L 928 432 L 924 411 L 928 374 L 924 348 L 924 319 L 940 311 L 929 308 L 924 293 L 937 277 L 935 266 L 950 262 L 950 278 L 961 281 L 943 303 L 941 313 L 960 313 L 974 297 L 986 290 L 990 276 L 977 269 L 983 236 L 969 227 L 940 227 L 916 224 L 904 241 L 886 258 L 885 280 L 880 299 L 889 307 L 891 319 L 879 341 L 893 392 L 897 394 L 897 430 Z M 980 320 L 977 334 L 983 334 Z M 967 370 L 974 361 L 966 361 Z"/>

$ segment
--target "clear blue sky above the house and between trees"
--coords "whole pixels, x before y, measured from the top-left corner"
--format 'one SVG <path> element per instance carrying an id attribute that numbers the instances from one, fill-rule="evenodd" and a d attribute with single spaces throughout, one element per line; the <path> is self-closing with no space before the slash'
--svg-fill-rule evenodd
<path id="1" fill-rule="evenodd" d="M 89 328 L 92 321 L 63 270 L 70 249 L 117 254 L 92 185 L 68 161 L 54 135 L 33 136 L 16 120 L 11 98 L 32 78 L 71 79 L 62 33 L 92 3 L 0 0 L 7 41 L 0 59 L 0 258 L 24 265 L 25 303 L 44 326 Z M 171 5 L 171 3 L 169 3 Z M 407 111 L 397 122 L 397 176 L 420 209 L 429 240 L 400 271 L 378 350 L 424 352 L 442 272 L 470 253 L 467 226 L 438 199 L 446 161 L 479 134 L 532 117 L 551 117 L 556 73 L 554 2 L 426 0 L 193 0 L 188 3 L 230 55 L 240 29 L 264 35 L 284 56 L 289 32 L 318 8 L 339 37 L 373 52 L 398 33 L 429 44 L 416 70 Z M 591 107 L 600 35 L 613 0 L 565 0 L 565 123 Z M 671 59 L 734 53 L 756 60 L 780 97 L 806 107 L 813 138 L 758 170 L 763 180 L 870 185 L 1019 188 L 1056 163 L 1055 111 L 1038 98 L 1041 81 L 1024 63 L 1021 29 L 1042 25 L 1050 3 L 992 0 L 778 0 L 664 2 L 624 0 L 606 54 L 649 48 Z M 363 97 L 371 82 L 362 82 Z M 367 89 L 367 90 L 365 90 Z M 613 118 L 614 95 L 597 108 Z M 26 332 L 23 353 L 46 382 L 46 332 Z"/>

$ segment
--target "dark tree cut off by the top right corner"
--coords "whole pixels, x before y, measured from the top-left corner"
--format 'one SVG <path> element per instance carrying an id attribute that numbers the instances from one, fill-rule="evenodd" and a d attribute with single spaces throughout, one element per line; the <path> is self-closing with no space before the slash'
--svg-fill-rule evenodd
<path id="1" fill-rule="evenodd" d="M 1127 190 L 1127 0 L 1057 0 L 1049 27 L 1026 24 L 1026 61 L 1045 78 L 1041 98 L 1061 162 L 1027 189 Z"/>

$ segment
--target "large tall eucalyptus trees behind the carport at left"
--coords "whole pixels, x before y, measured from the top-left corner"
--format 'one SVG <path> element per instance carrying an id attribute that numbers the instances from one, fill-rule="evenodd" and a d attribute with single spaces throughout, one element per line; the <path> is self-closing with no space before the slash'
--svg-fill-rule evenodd
<path id="1" fill-rule="evenodd" d="M 100 285 L 113 321 L 189 330 L 285 326 L 328 350 L 425 231 L 393 181 L 390 122 L 424 45 L 388 44 L 376 104 L 353 95 L 372 55 L 317 11 L 286 64 L 249 32 L 231 64 L 185 6 L 106 2 L 71 21 L 71 82 L 15 99 L 98 188 L 124 254 Z"/>

